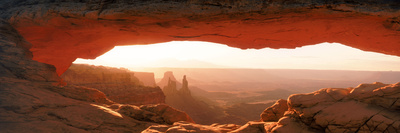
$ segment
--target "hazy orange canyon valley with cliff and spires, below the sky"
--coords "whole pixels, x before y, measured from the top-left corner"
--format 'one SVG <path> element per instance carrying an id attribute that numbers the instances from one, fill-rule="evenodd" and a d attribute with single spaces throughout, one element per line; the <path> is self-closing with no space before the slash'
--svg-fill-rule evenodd
<path id="1" fill-rule="evenodd" d="M 260 112 L 292 94 L 311 93 L 321 88 L 350 88 L 373 81 L 395 84 L 400 79 L 400 72 L 396 71 L 229 68 L 141 70 L 147 72 L 73 64 L 61 78 L 68 84 L 96 88 L 118 103 L 166 103 L 187 113 L 199 124 L 237 125 L 260 120 Z M 163 73 L 163 76 L 156 78 L 155 73 Z"/>

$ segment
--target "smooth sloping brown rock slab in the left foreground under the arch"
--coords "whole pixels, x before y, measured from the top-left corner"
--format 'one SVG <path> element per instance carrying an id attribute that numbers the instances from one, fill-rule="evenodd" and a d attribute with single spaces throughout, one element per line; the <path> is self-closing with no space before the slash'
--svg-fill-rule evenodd
<path id="1" fill-rule="evenodd" d="M 29 47 L 0 21 L 0 132 L 141 132 L 156 123 L 193 122 L 165 104 L 118 104 L 93 88 L 59 86 L 54 67 L 33 61 Z"/>

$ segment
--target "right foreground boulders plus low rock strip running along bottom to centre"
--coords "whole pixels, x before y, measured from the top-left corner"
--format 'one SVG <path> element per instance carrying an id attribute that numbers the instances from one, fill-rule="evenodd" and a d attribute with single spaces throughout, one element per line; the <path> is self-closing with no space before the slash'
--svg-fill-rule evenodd
<path id="1" fill-rule="evenodd" d="M 198 124 L 181 126 L 175 123 L 172 126 L 151 126 L 143 132 L 397 133 L 400 131 L 399 97 L 400 83 L 360 84 L 356 88 L 347 89 L 326 88 L 308 94 L 294 94 L 287 101 L 278 100 L 261 115 L 261 120 L 272 121 L 273 118 L 275 122 L 250 121 L 240 127 L 231 125 L 234 128 L 229 129 Z M 283 112 L 279 108 L 285 104 L 286 111 L 276 120 L 277 114 Z M 266 119 L 265 116 L 270 117 Z"/>

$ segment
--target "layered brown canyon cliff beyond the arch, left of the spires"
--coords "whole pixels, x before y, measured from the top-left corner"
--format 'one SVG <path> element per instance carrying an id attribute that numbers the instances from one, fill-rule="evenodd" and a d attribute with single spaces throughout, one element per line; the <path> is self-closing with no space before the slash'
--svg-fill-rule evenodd
<path id="1" fill-rule="evenodd" d="M 165 103 L 164 93 L 159 87 L 144 86 L 135 75 L 136 72 L 117 68 L 74 64 L 61 77 L 68 84 L 96 88 L 118 103 Z"/>

